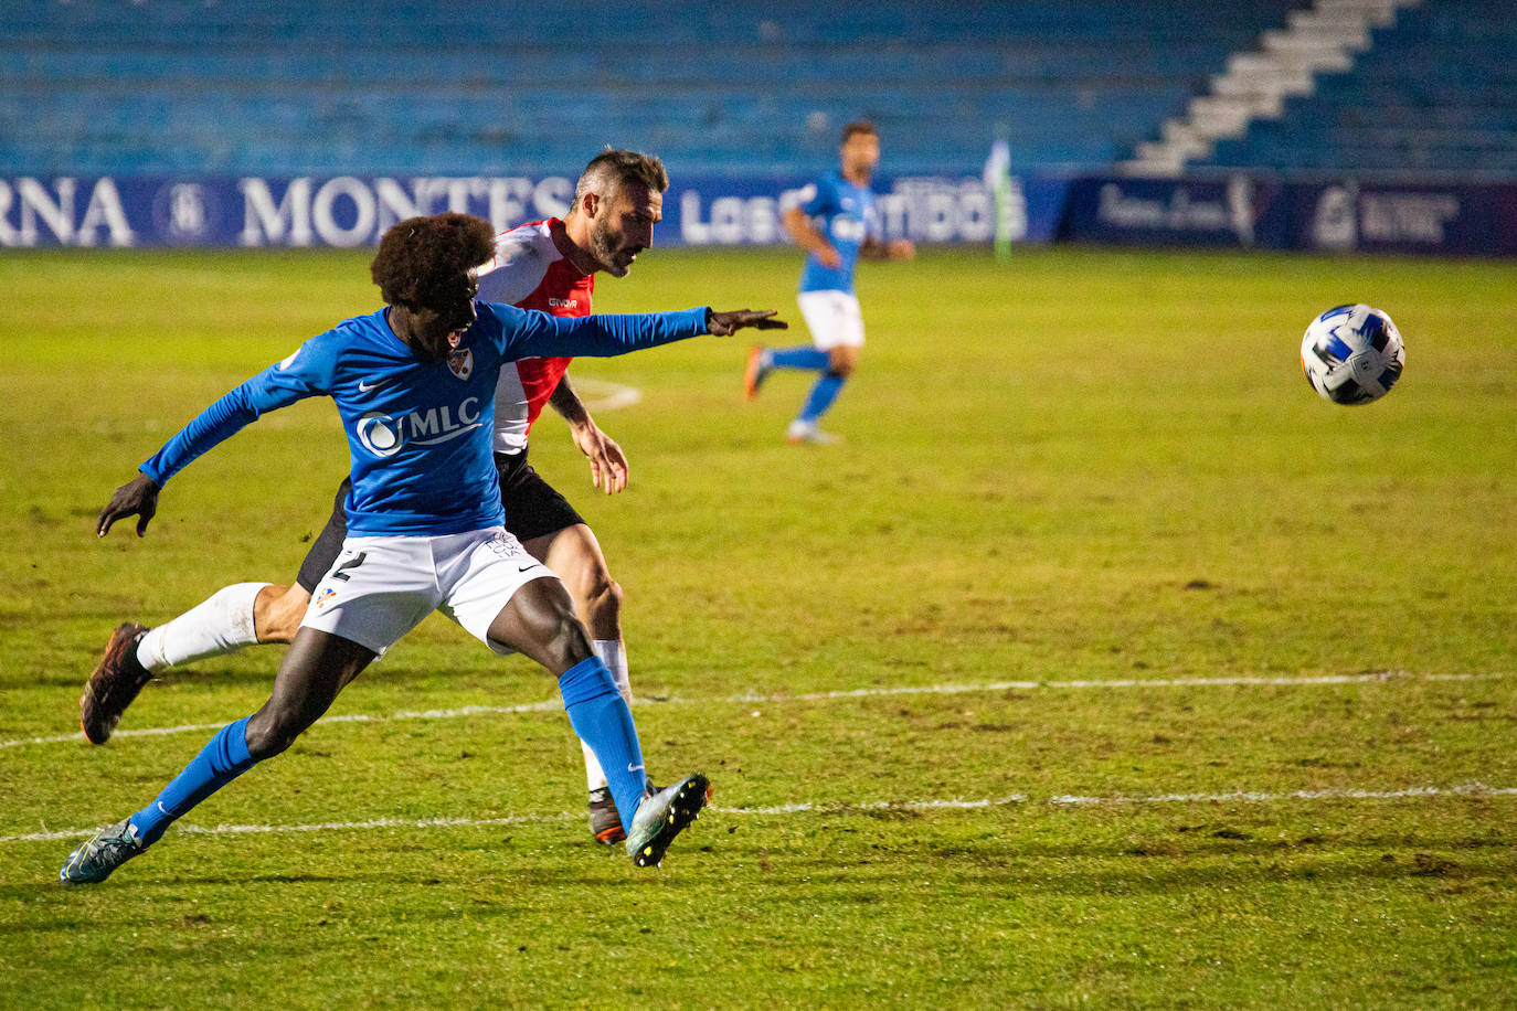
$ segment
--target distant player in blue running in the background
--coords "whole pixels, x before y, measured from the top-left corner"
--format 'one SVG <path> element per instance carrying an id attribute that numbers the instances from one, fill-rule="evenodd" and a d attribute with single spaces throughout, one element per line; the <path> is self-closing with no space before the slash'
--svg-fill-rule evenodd
<path id="1" fill-rule="evenodd" d="M 752 400 L 775 368 L 822 373 L 790 423 L 790 443 L 837 441 L 816 423 L 833 406 L 863 347 L 863 317 L 853 280 L 859 258 L 910 259 L 916 255 L 909 239 L 883 241 L 880 212 L 869 189 L 874 167 L 880 164 L 880 135 L 872 123 L 843 127 L 840 162 L 837 171 L 806 188 L 804 203 L 786 209 L 781 217 L 790 238 L 807 250 L 796 302 L 815 346 L 755 346 L 743 374 L 743 393 Z"/>

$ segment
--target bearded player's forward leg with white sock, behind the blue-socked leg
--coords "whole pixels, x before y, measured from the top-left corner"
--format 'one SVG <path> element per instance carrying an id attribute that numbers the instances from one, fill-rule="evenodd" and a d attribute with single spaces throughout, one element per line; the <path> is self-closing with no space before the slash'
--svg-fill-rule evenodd
<path id="1" fill-rule="evenodd" d="M 534 537 L 522 546 L 563 579 L 579 620 L 590 631 L 590 649 L 611 671 L 616 690 L 630 705 L 633 690 L 627 673 L 627 647 L 622 643 L 622 587 L 611 579 L 595 532 L 584 523 L 576 523 Z M 605 846 L 620 843 L 627 834 L 611 800 L 605 772 L 589 744 L 581 741 L 579 747 L 584 752 L 586 787 L 590 791 L 590 834 Z"/>

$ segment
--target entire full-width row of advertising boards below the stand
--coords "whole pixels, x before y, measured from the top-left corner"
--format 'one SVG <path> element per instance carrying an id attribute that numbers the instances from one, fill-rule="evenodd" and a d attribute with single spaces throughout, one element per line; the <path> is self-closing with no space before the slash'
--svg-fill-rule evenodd
<path id="1" fill-rule="evenodd" d="M 689 177 L 664 194 L 664 246 L 771 246 L 810 179 Z M 1016 243 L 1206 246 L 1517 256 L 1517 185 L 1013 177 Z M 975 176 L 875 180 L 889 238 L 991 243 Z M 417 214 L 464 211 L 498 229 L 561 215 L 567 176 L 0 176 L 0 247 L 363 247 Z"/>

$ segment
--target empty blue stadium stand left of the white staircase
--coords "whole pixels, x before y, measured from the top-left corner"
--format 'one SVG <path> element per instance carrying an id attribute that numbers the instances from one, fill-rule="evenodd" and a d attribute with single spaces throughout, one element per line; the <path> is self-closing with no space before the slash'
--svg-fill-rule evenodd
<path id="1" fill-rule="evenodd" d="M 857 117 L 894 173 L 1103 168 L 1303 6 L 9 0 L 0 171 L 810 173 Z"/>

